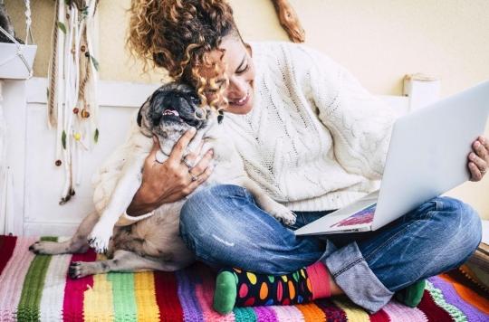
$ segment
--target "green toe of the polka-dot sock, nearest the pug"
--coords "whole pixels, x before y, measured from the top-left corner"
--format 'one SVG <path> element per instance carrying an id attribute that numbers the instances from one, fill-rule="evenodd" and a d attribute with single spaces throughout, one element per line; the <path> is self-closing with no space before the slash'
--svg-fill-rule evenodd
<path id="1" fill-rule="evenodd" d="M 230 271 L 217 274 L 216 290 L 214 291 L 214 309 L 221 314 L 227 314 L 235 308 L 236 278 Z"/>

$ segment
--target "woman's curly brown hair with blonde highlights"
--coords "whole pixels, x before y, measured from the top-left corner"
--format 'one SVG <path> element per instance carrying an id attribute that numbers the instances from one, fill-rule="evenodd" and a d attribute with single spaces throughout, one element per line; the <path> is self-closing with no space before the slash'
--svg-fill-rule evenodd
<path id="1" fill-rule="evenodd" d="M 219 50 L 227 35 L 242 41 L 225 0 L 132 0 L 129 14 L 127 45 L 142 59 L 144 71 L 149 64 L 164 68 L 173 80 L 194 86 L 202 105 L 224 108 L 228 81 L 218 85 L 216 79 L 225 75 L 225 64 L 210 62 L 206 53 Z M 213 75 L 202 77 L 202 66 L 212 67 Z M 206 90 L 216 99 L 207 102 Z"/>

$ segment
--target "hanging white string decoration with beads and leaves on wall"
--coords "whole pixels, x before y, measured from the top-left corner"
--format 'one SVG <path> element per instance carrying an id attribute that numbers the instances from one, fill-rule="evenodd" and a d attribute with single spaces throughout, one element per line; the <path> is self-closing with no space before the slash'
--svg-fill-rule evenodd
<path id="1" fill-rule="evenodd" d="M 56 128 L 54 164 L 63 166 L 60 204 L 75 194 L 82 179 L 82 154 L 99 139 L 97 82 L 93 57 L 98 0 L 56 0 L 48 71 L 48 124 Z"/>

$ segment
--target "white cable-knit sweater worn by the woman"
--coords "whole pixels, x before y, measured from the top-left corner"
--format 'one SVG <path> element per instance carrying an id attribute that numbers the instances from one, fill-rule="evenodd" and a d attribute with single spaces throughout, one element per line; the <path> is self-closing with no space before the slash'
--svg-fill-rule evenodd
<path id="1" fill-rule="evenodd" d="M 379 188 L 395 111 L 320 52 L 251 45 L 254 109 L 223 122 L 248 175 L 294 211 L 337 209 Z"/>

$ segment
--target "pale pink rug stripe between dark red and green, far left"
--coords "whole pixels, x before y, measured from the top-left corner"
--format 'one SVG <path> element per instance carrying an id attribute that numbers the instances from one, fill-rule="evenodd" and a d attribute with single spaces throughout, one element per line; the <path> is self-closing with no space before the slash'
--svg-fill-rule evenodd
<path id="1" fill-rule="evenodd" d="M 29 251 L 29 246 L 38 241 L 38 238 L 19 238 L 15 244 L 12 258 L 5 266 L 0 276 L 0 312 L 2 321 L 14 321 L 17 306 L 22 294 L 24 278 L 29 270 L 34 253 Z"/>

